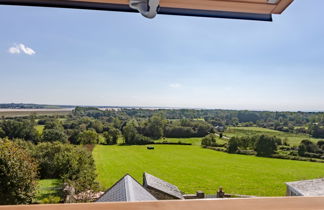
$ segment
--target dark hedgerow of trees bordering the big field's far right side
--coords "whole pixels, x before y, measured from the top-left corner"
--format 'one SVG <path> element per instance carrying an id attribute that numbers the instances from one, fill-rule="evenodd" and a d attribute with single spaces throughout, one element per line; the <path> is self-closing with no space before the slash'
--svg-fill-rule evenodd
<path id="1" fill-rule="evenodd" d="M 202 138 L 201 145 L 232 154 L 317 162 L 324 160 L 324 141 L 322 140 L 314 143 L 305 139 L 298 147 L 289 145 L 285 139 L 269 135 L 232 137 L 224 144 L 219 144 L 216 140 L 215 134 L 209 134 Z"/>

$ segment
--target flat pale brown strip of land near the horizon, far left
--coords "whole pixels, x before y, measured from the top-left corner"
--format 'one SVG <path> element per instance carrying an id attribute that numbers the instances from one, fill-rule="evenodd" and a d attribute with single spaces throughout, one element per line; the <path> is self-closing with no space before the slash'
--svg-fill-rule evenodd
<path id="1" fill-rule="evenodd" d="M 68 115 L 72 108 L 66 109 L 0 109 L 0 117 L 24 117 L 31 114 L 36 115 Z"/>

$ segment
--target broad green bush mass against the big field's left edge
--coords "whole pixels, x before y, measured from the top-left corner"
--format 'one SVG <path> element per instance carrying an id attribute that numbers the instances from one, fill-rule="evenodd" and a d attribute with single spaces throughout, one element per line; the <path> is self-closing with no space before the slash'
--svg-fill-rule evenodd
<path id="1" fill-rule="evenodd" d="M 72 185 L 76 192 L 96 189 L 97 177 L 91 152 L 70 144 L 40 143 L 34 152 L 42 178 L 59 178 Z"/>

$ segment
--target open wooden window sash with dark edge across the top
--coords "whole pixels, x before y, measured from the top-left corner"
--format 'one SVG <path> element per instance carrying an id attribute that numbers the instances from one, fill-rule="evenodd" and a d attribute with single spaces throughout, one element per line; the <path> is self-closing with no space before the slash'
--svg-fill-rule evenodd
<path id="1" fill-rule="evenodd" d="M 293 0 L 160 0 L 158 14 L 271 21 Z M 129 0 L 0 0 L 0 4 L 137 12 Z"/>

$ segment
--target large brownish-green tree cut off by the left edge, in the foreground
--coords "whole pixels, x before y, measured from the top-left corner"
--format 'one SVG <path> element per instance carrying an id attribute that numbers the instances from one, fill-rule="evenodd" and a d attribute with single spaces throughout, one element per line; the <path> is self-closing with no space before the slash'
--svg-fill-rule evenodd
<path id="1" fill-rule="evenodd" d="M 28 204 L 36 192 L 37 164 L 15 143 L 0 140 L 0 205 Z"/>

